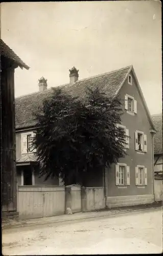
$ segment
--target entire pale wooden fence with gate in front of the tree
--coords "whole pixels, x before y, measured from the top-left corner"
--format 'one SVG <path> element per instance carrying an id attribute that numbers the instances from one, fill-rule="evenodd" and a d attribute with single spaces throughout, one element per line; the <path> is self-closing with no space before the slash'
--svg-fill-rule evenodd
<path id="1" fill-rule="evenodd" d="M 18 186 L 17 210 L 19 217 L 40 218 L 66 213 L 104 208 L 104 188 L 81 186 L 34 185 Z"/>

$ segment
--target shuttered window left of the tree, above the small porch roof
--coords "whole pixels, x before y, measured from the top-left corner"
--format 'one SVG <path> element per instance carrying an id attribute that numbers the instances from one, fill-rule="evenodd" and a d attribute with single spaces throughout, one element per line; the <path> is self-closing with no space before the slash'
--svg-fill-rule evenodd
<path id="1" fill-rule="evenodd" d="M 36 152 L 36 148 L 34 148 L 32 145 L 34 136 L 35 136 L 34 132 L 21 134 L 21 154 Z"/>

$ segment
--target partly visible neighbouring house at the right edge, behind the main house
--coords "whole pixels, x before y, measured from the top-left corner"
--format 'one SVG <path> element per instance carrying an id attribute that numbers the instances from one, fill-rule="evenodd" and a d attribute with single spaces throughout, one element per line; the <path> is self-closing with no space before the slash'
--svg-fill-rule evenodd
<path id="1" fill-rule="evenodd" d="M 154 194 L 155 200 L 162 200 L 162 114 L 152 116 L 157 133 L 154 135 Z"/>

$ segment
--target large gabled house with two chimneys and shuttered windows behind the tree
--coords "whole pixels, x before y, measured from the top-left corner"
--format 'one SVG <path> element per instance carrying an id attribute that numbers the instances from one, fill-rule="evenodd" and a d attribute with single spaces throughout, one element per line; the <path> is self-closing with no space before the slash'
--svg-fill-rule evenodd
<path id="1" fill-rule="evenodd" d="M 124 100 L 122 123 L 117 125 L 126 133 L 127 145 L 124 150 L 127 155 L 119 163 L 105 168 L 105 175 L 99 173 L 87 177 L 86 186 L 105 187 L 108 207 L 153 202 L 153 135 L 156 131 L 133 67 L 81 80 L 78 79 L 79 71 L 75 67 L 69 72 L 69 83 L 60 86 L 63 91 L 85 99 L 87 87 L 99 87 L 107 96 L 118 95 Z M 42 101 L 52 94 L 52 89 L 47 89 L 47 86 L 47 81 L 42 77 L 38 92 L 15 100 L 18 184 L 34 185 L 43 182 L 38 178 L 39 164 L 36 153 L 30 150 L 30 139 L 37 132 L 34 113 L 38 113 Z M 29 178 L 25 177 L 27 172 Z M 59 184 L 57 179 L 46 182 L 43 184 Z"/>

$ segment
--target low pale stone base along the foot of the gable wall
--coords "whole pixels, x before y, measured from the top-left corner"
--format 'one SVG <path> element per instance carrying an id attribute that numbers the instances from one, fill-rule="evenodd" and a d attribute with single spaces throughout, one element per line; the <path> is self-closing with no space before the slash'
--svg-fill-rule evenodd
<path id="1" fill-rule="evenodd" d="M 154 195 L 141 196 L 123 196 L 123 197 L 107 197 L 106 205 L 108 208 L 130 206 L 138 204 L 147 204 L 154 202 Z"/>

